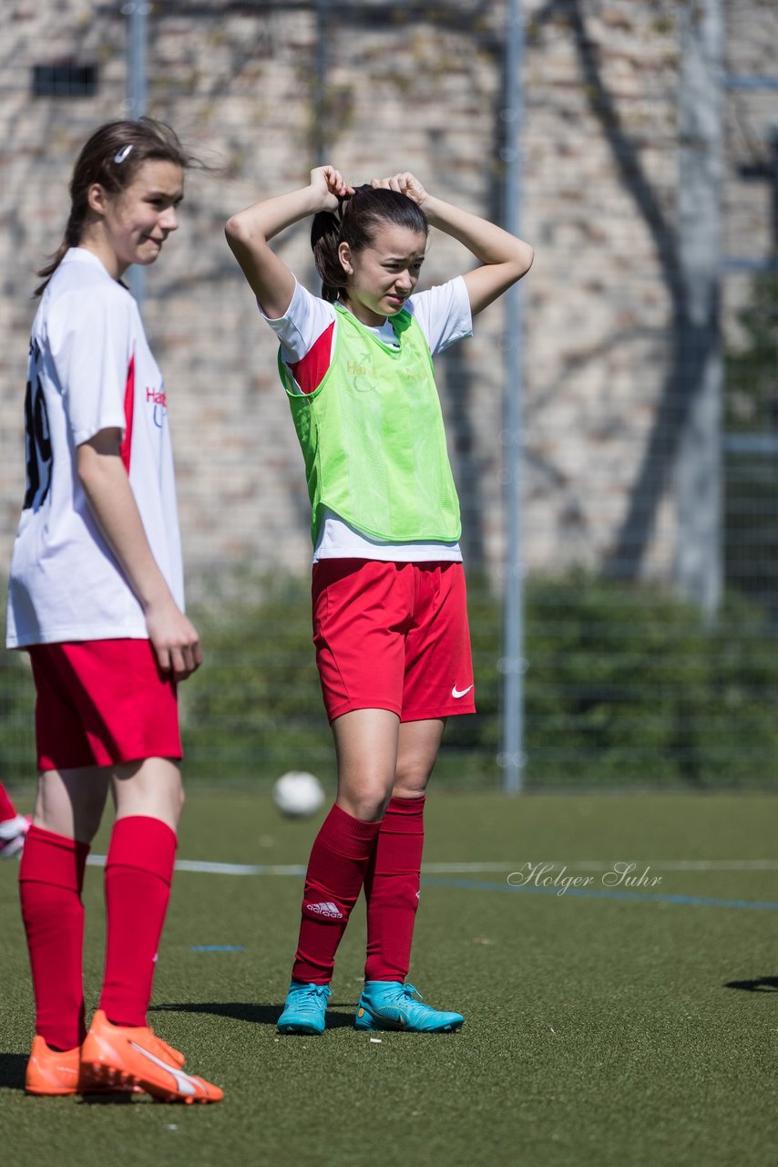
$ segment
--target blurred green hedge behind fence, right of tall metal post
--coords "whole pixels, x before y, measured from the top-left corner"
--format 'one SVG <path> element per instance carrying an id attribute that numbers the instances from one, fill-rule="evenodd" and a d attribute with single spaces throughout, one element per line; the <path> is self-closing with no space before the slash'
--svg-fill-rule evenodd
<path id="1" fill-rule="evenodd" d="M 656 588 L 584 575 L 527 602 L 528 785 L 768 785 L 778 654 L 759 609 L 715 627 Z"/>

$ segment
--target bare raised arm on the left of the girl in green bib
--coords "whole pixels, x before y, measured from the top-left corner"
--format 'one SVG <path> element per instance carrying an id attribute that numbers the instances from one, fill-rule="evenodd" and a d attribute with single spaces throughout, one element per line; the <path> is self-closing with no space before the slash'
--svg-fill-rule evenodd
<path id="1" fill-rule="evenodd" d="M 230 249 L 271 320 L 286 315 L 294 294 L 294 275 L 272 250 L 269 240 L 309 215 L 335 210 L 338 196 L 351 193 L 339 170 L 318 166 L 310 172 L 307 187 L 254 203 L 227 221 L 224 233 Z"/>

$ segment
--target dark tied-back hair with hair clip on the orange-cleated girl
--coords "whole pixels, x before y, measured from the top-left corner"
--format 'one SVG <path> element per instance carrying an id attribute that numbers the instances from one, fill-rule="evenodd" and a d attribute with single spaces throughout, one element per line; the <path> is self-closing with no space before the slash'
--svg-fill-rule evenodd
<path id="1" fill-rule="evenodd" d="M 135 175 L 149 159 L 175 162 L 187 168 L 195 159 L 184 153 L 175 132 L 164 121 L 140 118 L 138 121 L 107 121 L 94 131 L 73 167 L 70 180 L 70 217 L 58 250 L 37 275 L 43 282 L 35 288 L 41 295 L 62 263 L 69 247 L 77 247 L 84 233 L 89 188 L 99 182 L 111 194 L 132 186 Z"/>

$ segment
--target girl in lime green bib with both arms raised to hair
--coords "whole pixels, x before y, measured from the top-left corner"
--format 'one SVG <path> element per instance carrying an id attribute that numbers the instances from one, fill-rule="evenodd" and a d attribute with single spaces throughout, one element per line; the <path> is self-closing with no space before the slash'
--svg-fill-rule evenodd
<path id="1" fill-rule="evenodd" d="M 269 246 L 315 216 L 322 299 Z M 428 224 L 479 266 L 414 295 Z M 446 718 L 471 713 L 460 515 L 430 356 L 520 279 L 532 249 L 429 195 L 411 174 L 310 184 L 230 219 L 227 240 L 280 341 L 279 370 L 313 505 L 314 642 L 338 792 L 311 851 L 282 1033 L 322 1033 L 335 952 L 364 888 L 360 1029 L 450 1032 L 460 1013 L 405 983 L 423 804 Z"/>

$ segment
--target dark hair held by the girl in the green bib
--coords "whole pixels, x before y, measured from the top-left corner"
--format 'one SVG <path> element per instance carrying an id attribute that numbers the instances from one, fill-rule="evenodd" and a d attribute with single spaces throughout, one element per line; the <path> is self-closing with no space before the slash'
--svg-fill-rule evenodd
<path id="1" fill-rule="evenodd" d="M 338 257 L 338 246 L 348 243 L 355 254 L 369 247 L 376 228 L 383 223 L 407 226 L 429 233 L 427 216 L 413 198 L 384 187 L 357 187 L 339 201 L 336 211 L 318 211 L 310 228 L 310 246 L 316 270 L 322 278 L 322 296 L 335 303 L 346 289 L 346 274 Z"/>

